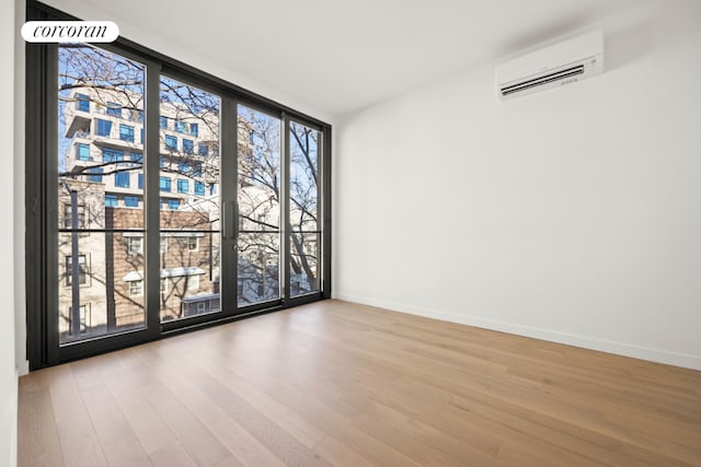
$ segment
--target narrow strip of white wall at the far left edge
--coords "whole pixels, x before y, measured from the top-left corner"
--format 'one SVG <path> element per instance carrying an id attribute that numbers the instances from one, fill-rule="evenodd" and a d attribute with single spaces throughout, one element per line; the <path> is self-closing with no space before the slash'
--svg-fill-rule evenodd
<path id="1" fill-rule="evenodd" d="M 18 373 L 14 350 L 14 180 L 8 174 L 14 167 L 14 73 L 8 68 L 14 63 L 15 51 L 15 4 L 14 1 L 0 3 L 0 59 L 5 63 L 5 72 L 0 73 L 0 160 L 5 174 L 0 184 L 0 219 L 5 229 L 0 229 L 0 256 L 5 258 L 0 269 L 0 465 L 16 465 L 16 421 L 18 421 Z M 19 32 L 18 32 L 19 33 Z M 10 68 L 11 69 L 11 68 Z"/>

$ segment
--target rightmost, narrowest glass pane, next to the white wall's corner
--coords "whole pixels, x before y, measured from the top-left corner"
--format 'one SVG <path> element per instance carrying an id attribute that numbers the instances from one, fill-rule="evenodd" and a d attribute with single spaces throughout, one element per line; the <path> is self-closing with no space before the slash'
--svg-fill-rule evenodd
<path id="1" fill-rule="evenodd" d="M 320 132 L 290 122 L 289 222 L 290 295 L 319 290 L 319 143 Z"/>

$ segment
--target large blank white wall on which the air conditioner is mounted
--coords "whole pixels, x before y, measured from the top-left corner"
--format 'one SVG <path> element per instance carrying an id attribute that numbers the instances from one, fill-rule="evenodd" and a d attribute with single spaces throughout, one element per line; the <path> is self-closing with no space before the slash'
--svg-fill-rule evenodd
<path id="1" fill-rule="evenodd" d="M 499 103 L 489 63 L 346 116 L 335 296 L 701 370 L 700 26 L 641 5 L 583 30 L 595 79 Z"/>

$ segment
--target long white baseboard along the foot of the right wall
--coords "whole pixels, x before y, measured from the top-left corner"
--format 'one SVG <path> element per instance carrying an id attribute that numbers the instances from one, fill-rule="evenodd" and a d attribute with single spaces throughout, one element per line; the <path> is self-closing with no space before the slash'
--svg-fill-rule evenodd
<path id="1" fill-rule="evenodd" d="M 616 342 L 611 340 L 598 339 L 588 336 L 561 332 L 552 329 L 537 328 L 514 323 L 499 322 L 482 318 L 479 316 L 462 315 L 456 313 L 441 312 L 437 310 L 423 308 L 402 303 L 389 302 L 384 300 L 365 299 L 347 294 L 334 294 L 334 299 L 346 302 L 359 303 L 363 305 L 377 306 L 379 308 L 391 310 L 411 315 L 424 316 L 427 318 L 441 319 L 450 323 L 458 323 L 484 329 L 497 330 L 501 332 L 515 334 L 518 336 L 532 337 L 551 342 L 565 343 L 568 346 L 582 347 L 584 349 L 599 350 L 608 353 L 616 353 L 634 359 L 647 360 L 651 362 L 665 363 L 668 365 L 682 366 L 701 371 L 701 357 L 687 353 L 670 352 L 668 350 L 652 349 L 647 347 L 634 346 L 630 343 Z"/>

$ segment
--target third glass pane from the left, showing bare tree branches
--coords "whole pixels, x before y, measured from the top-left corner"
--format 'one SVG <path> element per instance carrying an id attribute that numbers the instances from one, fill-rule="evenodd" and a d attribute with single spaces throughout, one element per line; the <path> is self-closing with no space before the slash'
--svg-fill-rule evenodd
<path id="1" fill-rule="evenodd" d="M 240 306 L 280 296 L 280 120 L 239 105 Z"/>

